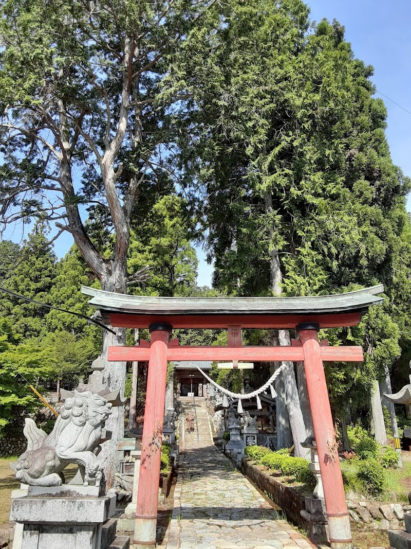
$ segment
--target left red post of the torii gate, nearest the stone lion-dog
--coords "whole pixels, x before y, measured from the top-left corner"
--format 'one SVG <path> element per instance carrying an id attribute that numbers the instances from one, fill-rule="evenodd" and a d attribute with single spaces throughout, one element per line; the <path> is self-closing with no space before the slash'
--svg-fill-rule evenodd
<path id="1" fill-rule="evenodd" d="M 135 549 L 156 546 L 167 351 L 172 326 L 156 323 L 151 324 L 149 329 L 151 345 L 134 526 Z"/>

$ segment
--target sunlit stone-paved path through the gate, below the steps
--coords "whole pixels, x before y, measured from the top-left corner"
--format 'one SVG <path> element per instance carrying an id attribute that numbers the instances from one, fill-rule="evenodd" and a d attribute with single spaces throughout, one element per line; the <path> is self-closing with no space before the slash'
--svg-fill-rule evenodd
<path id="1" fill-rule="evenodd" d="M 180 456 L 167 549 L 312 549 L 212 444 Z"/>

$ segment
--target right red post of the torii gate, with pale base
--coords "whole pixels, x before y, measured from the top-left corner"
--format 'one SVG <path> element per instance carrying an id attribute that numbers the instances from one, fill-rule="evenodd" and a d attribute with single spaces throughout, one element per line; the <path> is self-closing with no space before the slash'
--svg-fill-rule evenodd
<path id="1" fill-rule="evenodd" d="M 345 501 L 326 376 L 318 343 L 319 325 L 315 322 L 304 322 L 296 329 L 299 331 L 304 350 L 307 392 L 324 488 L 331 547 L 333 549 L 352 547 L 350 516 Z"/>

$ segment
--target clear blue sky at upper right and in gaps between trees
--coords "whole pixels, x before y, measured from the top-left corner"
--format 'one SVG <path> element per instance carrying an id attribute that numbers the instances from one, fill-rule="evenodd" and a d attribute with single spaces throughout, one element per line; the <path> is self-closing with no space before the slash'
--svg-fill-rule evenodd
<path id="1" fill-rule="evenodd" d="M 411 3 L 396 0 L 309 0 L 311 18 L 320 21 L 334 18 L 345 26 L 346 40 L 351 42 L 356 57 L 374 66 L 373 81 L 382 94 L 411 113 Z M 378 96 L 378 94 L 376 94 Z M 387 139 L 392 159 L 411 176 L 411 114 L 380 95 L 388 111 Z M 407 201 L 411 210 L 411 198 Z M 8 238 L 19 240 L 19 228 Z M 55 243 L 61 257 L 72 244 L 70 234 Z M 204 253 L 199 258 L 198 284 L 210 285 L 213 268 L 206 264 Z"/>

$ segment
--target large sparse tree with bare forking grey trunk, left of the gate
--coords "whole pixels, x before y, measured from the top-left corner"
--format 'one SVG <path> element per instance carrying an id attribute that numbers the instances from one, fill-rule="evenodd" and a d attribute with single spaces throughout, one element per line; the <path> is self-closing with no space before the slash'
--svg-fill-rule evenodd
<path id="1" fill-rule="evenodd" d="M 173 119 L 187 102 L 182 44 L 202 47 L 219 22 L 215 0 L 88 2 L 6 0 L 0 10 L 3 166 L 0 222 L 55 221 L 72 234 L 101 288 L 127 290 L 130 219 L 140 193 L 179 173 Z M 206 32 L 208 34 L 208 32 Z M 167 82 L 174 67 L 172 84 Z M 81 206 L 115 235 L 110 257 L 90 239 Z M 124 390 L 125 363 L 107 346 L 125 330 L 104 332 L 101 360 L 111 389 Z M 107 484 L 117 465 L 124 411 L 113 409 L 102 454 Z"/>

